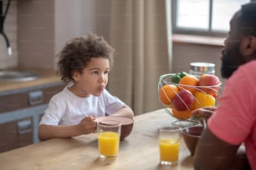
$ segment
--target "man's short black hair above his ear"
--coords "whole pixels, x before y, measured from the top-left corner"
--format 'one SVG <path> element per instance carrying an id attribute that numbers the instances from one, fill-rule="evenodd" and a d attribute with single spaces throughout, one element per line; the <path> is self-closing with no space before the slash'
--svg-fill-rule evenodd
<path id="1" fill-rule="evenodd" d="M 245 36 L 256 36 L 256 2 L 248 2 L 241 6 L 241 31 Z"/>

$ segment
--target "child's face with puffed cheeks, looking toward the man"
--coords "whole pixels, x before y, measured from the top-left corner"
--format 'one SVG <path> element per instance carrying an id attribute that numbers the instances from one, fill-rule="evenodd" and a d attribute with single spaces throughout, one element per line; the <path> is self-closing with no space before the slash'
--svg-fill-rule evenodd
<path id="1" fill-rule="evenodd" d="M 103 57 L 93 57 L 82 74 L 75 72 L 74 90 L 79 97 L 89 94 L 100 96 L 108 83 L 110 72 L 109 60 Z"/>

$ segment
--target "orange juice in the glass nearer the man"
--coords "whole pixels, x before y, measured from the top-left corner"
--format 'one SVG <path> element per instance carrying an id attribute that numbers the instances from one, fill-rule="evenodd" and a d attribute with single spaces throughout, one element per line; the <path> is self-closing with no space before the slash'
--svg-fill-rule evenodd
<path id="1" fill-rule="evenodd" d="M 159 140 L 160 160 L 163 162 L 177 162 L 179 157 L 179 147 L 180 143 L 177 140 Z"/>

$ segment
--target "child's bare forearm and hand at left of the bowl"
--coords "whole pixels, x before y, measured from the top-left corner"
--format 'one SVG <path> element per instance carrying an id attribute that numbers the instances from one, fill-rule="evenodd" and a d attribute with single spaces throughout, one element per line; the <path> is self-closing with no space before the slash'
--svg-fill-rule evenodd
<path id="1" fill-rule="evenodd" d="M 40 125 L 38 138 L 42 141 L 50 138 L 71 138 L 82 134 L 94 133 L 96 129 L 95 117 L 84 117 L 79 124 L 61 125 Z"/>

